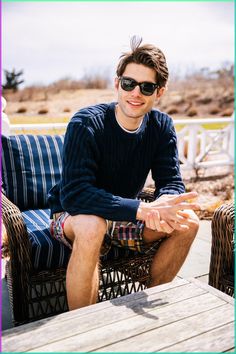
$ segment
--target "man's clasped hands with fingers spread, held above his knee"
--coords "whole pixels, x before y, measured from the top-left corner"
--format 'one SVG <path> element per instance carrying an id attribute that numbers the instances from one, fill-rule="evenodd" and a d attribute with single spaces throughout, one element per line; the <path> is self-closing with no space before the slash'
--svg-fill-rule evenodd
<path id="1" fill-rule="evenodd" d="M 196 192 L 179 195 L 163 195 L 154 202 L 141 202 L 137 212 L 137 219 L 145 221 L 148 228 L 171 233 L 173 230 L 188 229 L 185 209 L 199 210 L 198 203 L 188 202 L 196 198 Z"/>

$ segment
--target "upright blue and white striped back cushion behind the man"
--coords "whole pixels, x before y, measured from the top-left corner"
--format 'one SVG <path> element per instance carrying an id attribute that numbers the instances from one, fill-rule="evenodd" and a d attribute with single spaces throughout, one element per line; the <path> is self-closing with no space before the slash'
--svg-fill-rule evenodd
<path id="1" fill-rule="evenodd" d="M 2 136 L 6 196 L 21 210 L 46 208 L 47 193 L 60 179 L 63 135 Z"/>

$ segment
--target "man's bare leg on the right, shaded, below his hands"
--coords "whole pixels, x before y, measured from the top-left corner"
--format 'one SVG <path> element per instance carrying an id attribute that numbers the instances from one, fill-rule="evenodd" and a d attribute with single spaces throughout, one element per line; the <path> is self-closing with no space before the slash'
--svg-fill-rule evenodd
<path id="1" fill-rule="evenodd" d="M 188 211 L 187 231 L 174 230 L 162 241 L 151 265 L 150 287 L 172 281 L 183 265 L 199 228 L 199 220 L 193 211 Z M 163 232 L 144 228 L 144 240 L 155 241 L 166 236 Z"/>

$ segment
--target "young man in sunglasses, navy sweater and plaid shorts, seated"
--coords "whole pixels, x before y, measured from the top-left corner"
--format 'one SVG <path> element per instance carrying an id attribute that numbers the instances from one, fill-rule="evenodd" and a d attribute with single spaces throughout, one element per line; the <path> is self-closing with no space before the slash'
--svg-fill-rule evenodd
<path id="1" fill-rule="evenodd" d="M 175 277 L 198 230 L 193 210 L 199 206 L 188 201 L 197 194 L 184 193 L 173 122 L 152 110 L 167 84 L 165 56 L 135 38 L 131 49 L 117 68 L 117 103 L 82 109 L 71 119 L 62 179 L 49 193 L 52 235 L 72 249 L 70 309 L 96 302 L 99 257 L 109 236 L 114 245 L 140 252 L 164 238 L 151 266 L 154 286 Z M 140 202 L 150 170 L 156 200 Z M 128 222 L 128 239 L 115 221 Z"/>

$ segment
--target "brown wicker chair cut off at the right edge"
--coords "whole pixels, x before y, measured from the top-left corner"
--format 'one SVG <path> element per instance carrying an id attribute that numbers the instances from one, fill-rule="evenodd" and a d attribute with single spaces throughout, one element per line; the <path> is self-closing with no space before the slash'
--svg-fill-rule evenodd
<path id="1" fill-rule="evenodd" d="M 224 204 L 214 212 L 209 270 L 209 284 L 230 296 L 234 296 L 234 219 L 233 204 Z"/>

